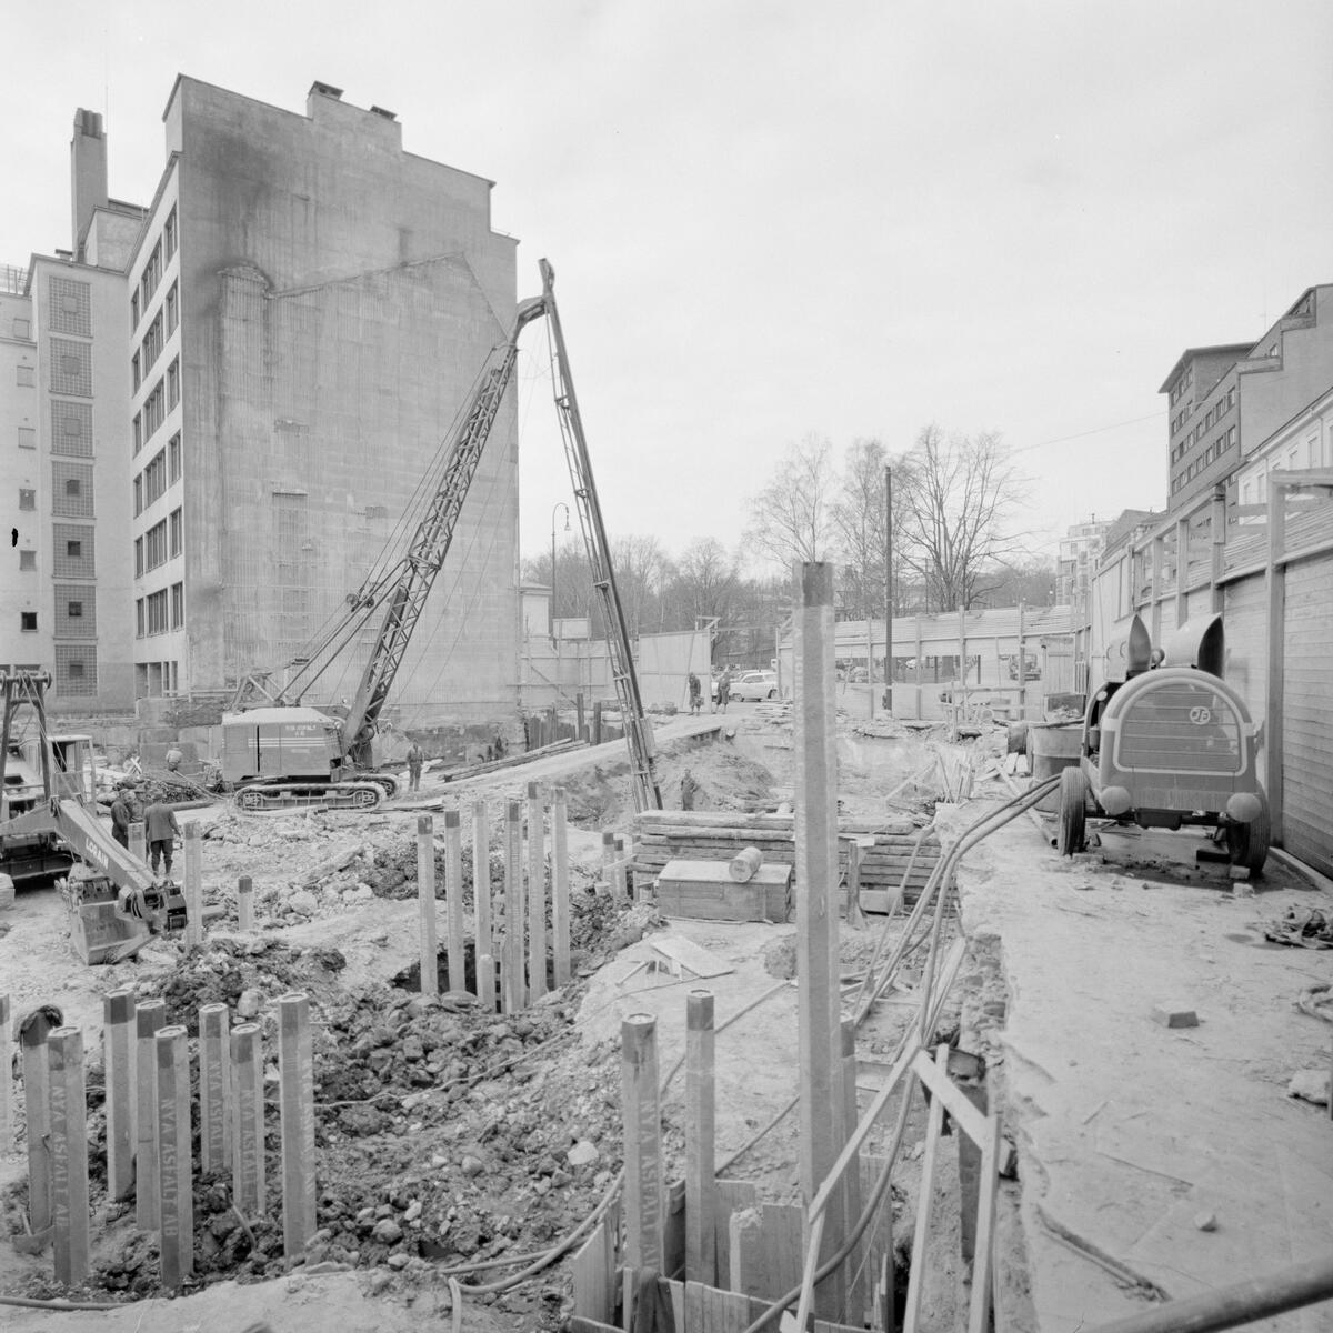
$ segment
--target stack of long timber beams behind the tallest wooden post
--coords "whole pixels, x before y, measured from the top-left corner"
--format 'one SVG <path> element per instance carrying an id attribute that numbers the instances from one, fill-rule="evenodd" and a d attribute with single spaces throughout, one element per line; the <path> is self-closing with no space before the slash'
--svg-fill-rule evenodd
<path id="1" fill-rule="evenodd" d="M 902 884 L 904 872 L 912 860 L 912 849 L 920 837 L 910 820 L 874 821 L 866 818 L 838 820 L 838 874 L 846 874 L 846 838 L 873 837 L 874 844 L 862 852 L 861 905 L 869 910 L 885 910 L 890 893 Z M 744 848 L 754 846 L 764 853 L 764 865 L 796 865 L 796 824 L 790 814 L 704 814 L 693 810 L 645 810 L 635 816 L 635 848 L 631 870 L 636 890 L 651 889 L 668 861 L 724 861 L 729 862 Z M 932 830 L 921 842 L 912 874 L 905 885 L 905 901 L 917 900 L 925 881 L 940 860 L 940 840 Z M 717 873 L 728 877 L 728 866 Z M 794 885 L 801 892 L 801 885 Z"/>

